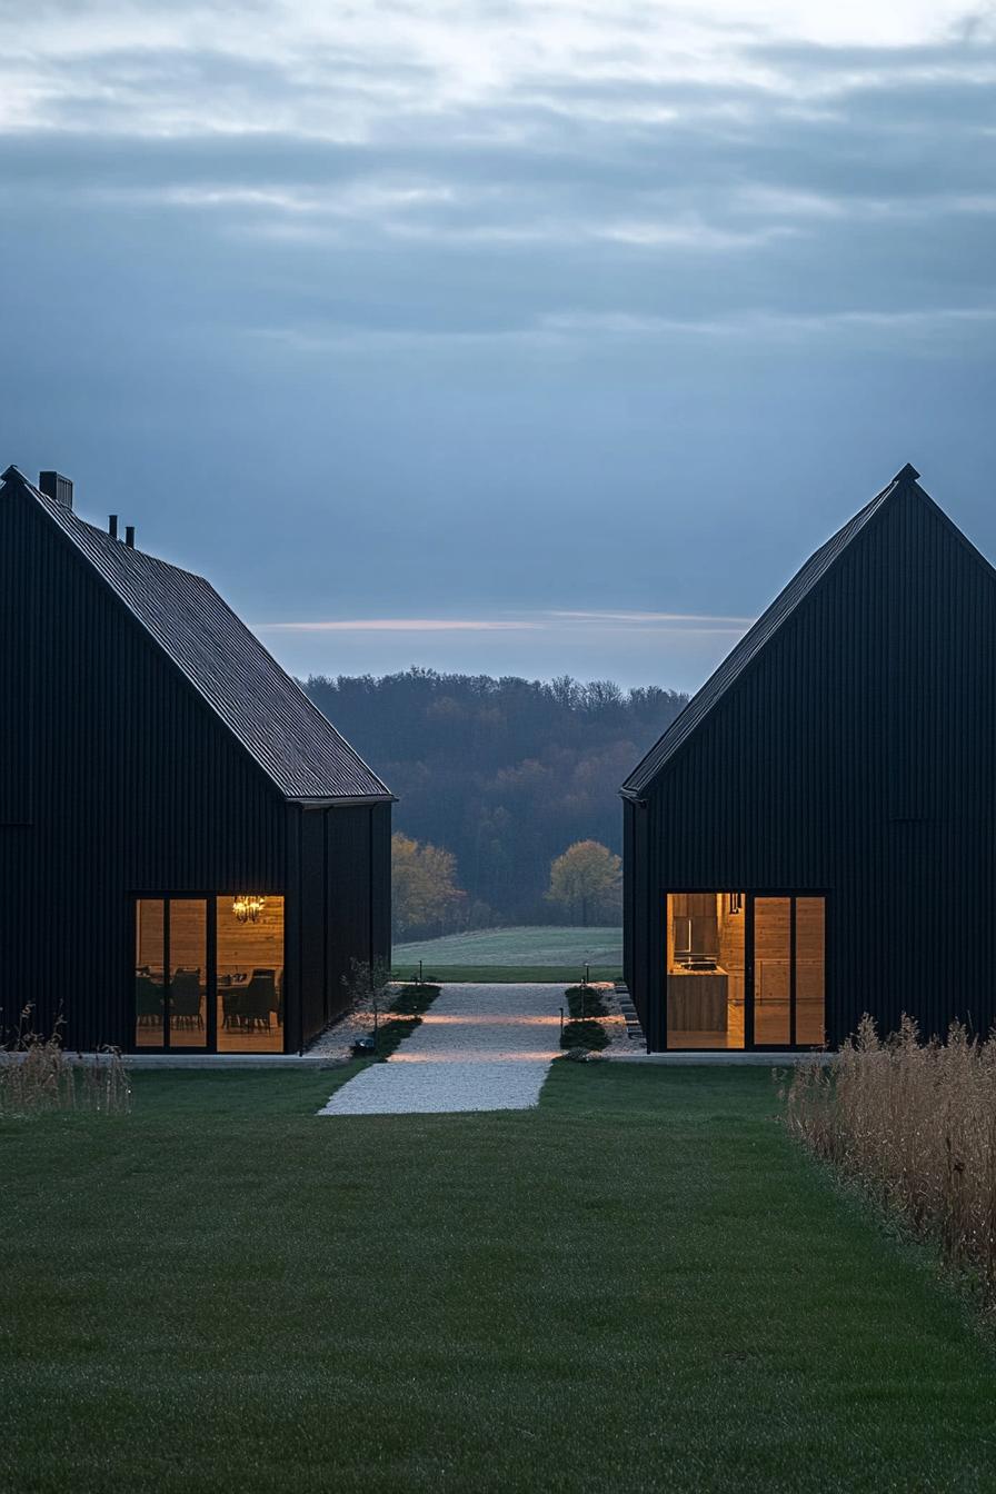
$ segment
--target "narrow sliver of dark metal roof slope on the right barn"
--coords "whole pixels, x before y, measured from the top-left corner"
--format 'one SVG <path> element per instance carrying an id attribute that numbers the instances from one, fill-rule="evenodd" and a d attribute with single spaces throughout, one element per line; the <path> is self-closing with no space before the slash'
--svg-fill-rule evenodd
<path id="1" fill-rule="evenodd" d="M 664 735 L 651 747 L 642 762 L 638 763 L 620 789 L 624 799 L 641 799 L 644 796 L 657 774 L 675 756 L 688 737 L 691 737 L 709 711 L 718 705 L 727 690 L 741 678 L 782 623 L 791 617 L 799 604 L 823 580 L 830 566 L 844 554 L 868 521 L 875 517 L 897 487 L 915 483 L 918 477 L 920 474 L 915 468 L 905 466 L 881 493 L 875 495 L 871 503 L 866 503 L 842 529 L 838 529 L 824 545 L 809 556 L 788 586 L 779 592 L 768 611 L 762 613 L 757 622 L 748 627 L 718 669 L 709 675 L 702 689 L 691 696 L 684 711 L 675 717 Z"/>

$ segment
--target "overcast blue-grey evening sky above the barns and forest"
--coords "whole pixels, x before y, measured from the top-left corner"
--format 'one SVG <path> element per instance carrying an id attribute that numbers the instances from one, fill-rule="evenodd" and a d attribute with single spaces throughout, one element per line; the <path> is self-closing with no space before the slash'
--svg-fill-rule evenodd
<path id="1" fill-rule="evenodd" d="M 693 687 L 908 460 L 996 556 L 995 6 L 0 0 L 0 466 L 297 672 Z"/>

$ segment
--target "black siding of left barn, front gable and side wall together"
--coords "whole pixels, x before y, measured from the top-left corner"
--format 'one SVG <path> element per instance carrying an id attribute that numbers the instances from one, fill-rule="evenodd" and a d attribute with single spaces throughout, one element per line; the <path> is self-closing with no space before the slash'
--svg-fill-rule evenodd
<path id="1" fill-rule="evenodd" d="M 0 500 L 0 1034 L 130 1043 L 131 898 L 285 898 L 287 1047 L 390 958 L 390 804 L 288 804 L 34 503 Z"/>

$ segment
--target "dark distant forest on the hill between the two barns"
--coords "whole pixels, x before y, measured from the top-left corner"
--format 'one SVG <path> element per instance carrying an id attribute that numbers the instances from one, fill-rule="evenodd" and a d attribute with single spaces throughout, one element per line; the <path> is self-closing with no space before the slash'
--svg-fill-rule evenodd
<path id="1" fill-rule="evenodd" d="M 433 669 L 312 675 L 306 690 L 399 795 L 394 828 L 455 855 L 475 928 L 557 922 L 551 861 L 578 840 L 621 852 L 618 787 L 687 699 Z"/>

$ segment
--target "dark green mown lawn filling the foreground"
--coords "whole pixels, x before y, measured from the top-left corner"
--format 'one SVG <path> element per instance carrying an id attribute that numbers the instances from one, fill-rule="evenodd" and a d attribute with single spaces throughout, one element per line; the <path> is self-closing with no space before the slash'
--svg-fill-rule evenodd
<path id="1" fill-rule="evenodd" d="M 768 1070 L 315 1119 L 348 1073 L 0 1125 L 4 1491 L 995 1487 L 990 1346 Z"/>

